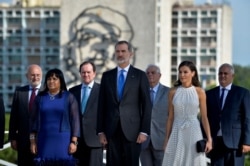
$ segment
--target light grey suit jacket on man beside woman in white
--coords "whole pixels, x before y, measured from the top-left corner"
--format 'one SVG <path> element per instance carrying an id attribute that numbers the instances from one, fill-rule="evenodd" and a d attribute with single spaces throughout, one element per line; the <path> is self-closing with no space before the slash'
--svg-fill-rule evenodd
<path id="1" fill-rule="evenodd" d="M 143 149 L 148 147 L 150 139 L 154 149 L 163 149 L 168 116 L 168 93 L 169 87 L 159 84 L 151 114 L 151 134 L 147 141 L 142 144 Z"/>

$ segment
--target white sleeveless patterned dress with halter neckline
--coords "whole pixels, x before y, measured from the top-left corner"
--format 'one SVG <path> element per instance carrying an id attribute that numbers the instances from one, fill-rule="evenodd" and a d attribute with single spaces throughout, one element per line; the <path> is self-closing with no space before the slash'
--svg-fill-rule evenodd
<path id="1" fill-rule="evenodd" d="M 202 133 L 199 98 L 194 86 L 178 87 L 173 97 L 174 122 L 162 166 L 206 166 L 205 153 L 196 152 Z"/>

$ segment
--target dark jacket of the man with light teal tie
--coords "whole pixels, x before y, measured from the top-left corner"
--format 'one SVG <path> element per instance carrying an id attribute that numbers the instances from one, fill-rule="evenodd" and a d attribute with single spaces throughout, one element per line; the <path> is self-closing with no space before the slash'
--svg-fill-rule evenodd
<path id="1" fill-rule="evenodd" d="M 69 91 L 75 96 L 80 108 L 81 138 L 84 139 L 89 147 L 101 147 L 98 135 L 96 134 L 97 105 L 100 84 L 96 82 L 94 83 L 86 105 L 86 111 L 83 115 L 81 113 L 81 88 L 82 84 L 69 89 Z"/>

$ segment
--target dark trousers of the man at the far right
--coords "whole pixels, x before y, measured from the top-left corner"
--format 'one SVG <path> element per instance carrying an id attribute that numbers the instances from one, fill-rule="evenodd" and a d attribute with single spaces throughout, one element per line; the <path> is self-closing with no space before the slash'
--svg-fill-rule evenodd
<path id="1" fill-rule="evenodd" d="M 244 166 L 244 154 L 241 148 L 226 147 L 222 137 L 217 137 L 214 142 L 214 148 L 209 154 L 211 166 Z"/>

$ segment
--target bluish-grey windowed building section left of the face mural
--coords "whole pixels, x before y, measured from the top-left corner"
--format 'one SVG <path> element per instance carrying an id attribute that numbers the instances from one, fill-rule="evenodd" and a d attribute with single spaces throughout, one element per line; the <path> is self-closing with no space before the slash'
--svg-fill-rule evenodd
<path id="1" fill-rule="evenodd" d="M 59 8 L 0 7 L 0 95 L 6 110 L 16 87 L 27 84 L 29 64 L 43 71 L 60 64 Z"/>

